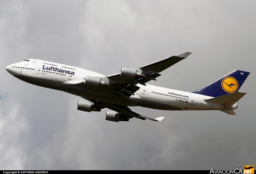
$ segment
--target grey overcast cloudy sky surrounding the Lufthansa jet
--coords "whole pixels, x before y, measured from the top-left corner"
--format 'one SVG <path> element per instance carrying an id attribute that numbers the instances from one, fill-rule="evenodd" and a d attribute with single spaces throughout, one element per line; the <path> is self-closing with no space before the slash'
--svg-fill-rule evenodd
<path id="1" fill-rule="evenodd" d="M 0 169 L 234 169 L 256 165 L 255 1 L 0 1 Z M 161 122 L 105 120 L 83 100 L 25 83 L 24 59 L 105 75 L 193 52 L 149 82 L 195 91 L 251 72 L 237 115 L 132 107 Z"/>

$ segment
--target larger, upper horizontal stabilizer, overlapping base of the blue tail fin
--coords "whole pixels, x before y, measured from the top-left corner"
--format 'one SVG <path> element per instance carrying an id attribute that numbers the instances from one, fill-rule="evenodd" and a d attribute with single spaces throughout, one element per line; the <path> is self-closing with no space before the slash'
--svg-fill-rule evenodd
<path id="1" fill-rule="evenodd" d="M 217 104 L 217 105 L 232 106 L 246 94 L 247 93 L 245 93 L 245 92 L 235 92 L 232 94 L 207 99 L 205 101 L 207 101 L 208 103 L 213 103 L 213 104 Z"/>

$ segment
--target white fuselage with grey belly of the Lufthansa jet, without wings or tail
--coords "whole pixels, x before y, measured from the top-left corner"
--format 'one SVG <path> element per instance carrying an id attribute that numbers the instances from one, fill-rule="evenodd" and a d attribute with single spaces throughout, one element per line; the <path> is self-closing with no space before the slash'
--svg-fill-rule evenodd
<path id="1" fill-rule="evenodd" d="M 99 87 L 86 86 L 84 88 L 67 89 L 62 86 L 65 82 L 71 80 L 84 81 L 86 76 L 106 76 L 86 69 L 43 60 L 28 59 L 27 61 L 8 65 L 6 69 L 13 76 L 34 85 L 118 105 L 142 106 L 159 110 L 233 110 L 237 108 L 237 103 L 233 106 L 215 105 L 205 101 L 205 99 L 213 98 L 210 96 L 153 85 L 137 84 L 140 89 L 129 99 L 114 94 L 111 90 L 102 92 L 98 90 Z"/>

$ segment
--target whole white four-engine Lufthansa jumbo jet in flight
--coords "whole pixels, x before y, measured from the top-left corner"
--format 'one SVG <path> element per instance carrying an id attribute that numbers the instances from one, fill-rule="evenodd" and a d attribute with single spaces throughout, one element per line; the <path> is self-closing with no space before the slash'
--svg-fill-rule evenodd
<path id="1" fill-rule="evenodd" d="M 26 59 L 8 65 L 6 70 L 27 83 L 61 90 L 86 99 L 77 109 L 85 112 L 106 111 L 105 120 L 119 122 L 131 118 L 161 121 L 132 111 L 129 106 L 158 110 L 220 110 L 236 115 L 237 101 L 246 93 L 238 92 L 249 72 L 236 70 L 195 91 L 185 92 L 146 84 L 161 76 L 160 72 L 187 58 L 191 52 L 142 66 L 122 67 L 121 72 L 103 75 L 79 67 L 44 60 Z"/>

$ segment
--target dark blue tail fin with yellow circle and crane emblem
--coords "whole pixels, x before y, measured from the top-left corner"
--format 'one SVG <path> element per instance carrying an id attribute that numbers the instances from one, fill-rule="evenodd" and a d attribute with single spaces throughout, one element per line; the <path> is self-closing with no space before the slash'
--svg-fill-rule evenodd
<path id="1" fill-rule="evenodd" d="M 219 97 L 238 92 L 249 74 L 250 73 L 246 71 L 236 70 L 193 93 L 211 97 Z"/>

